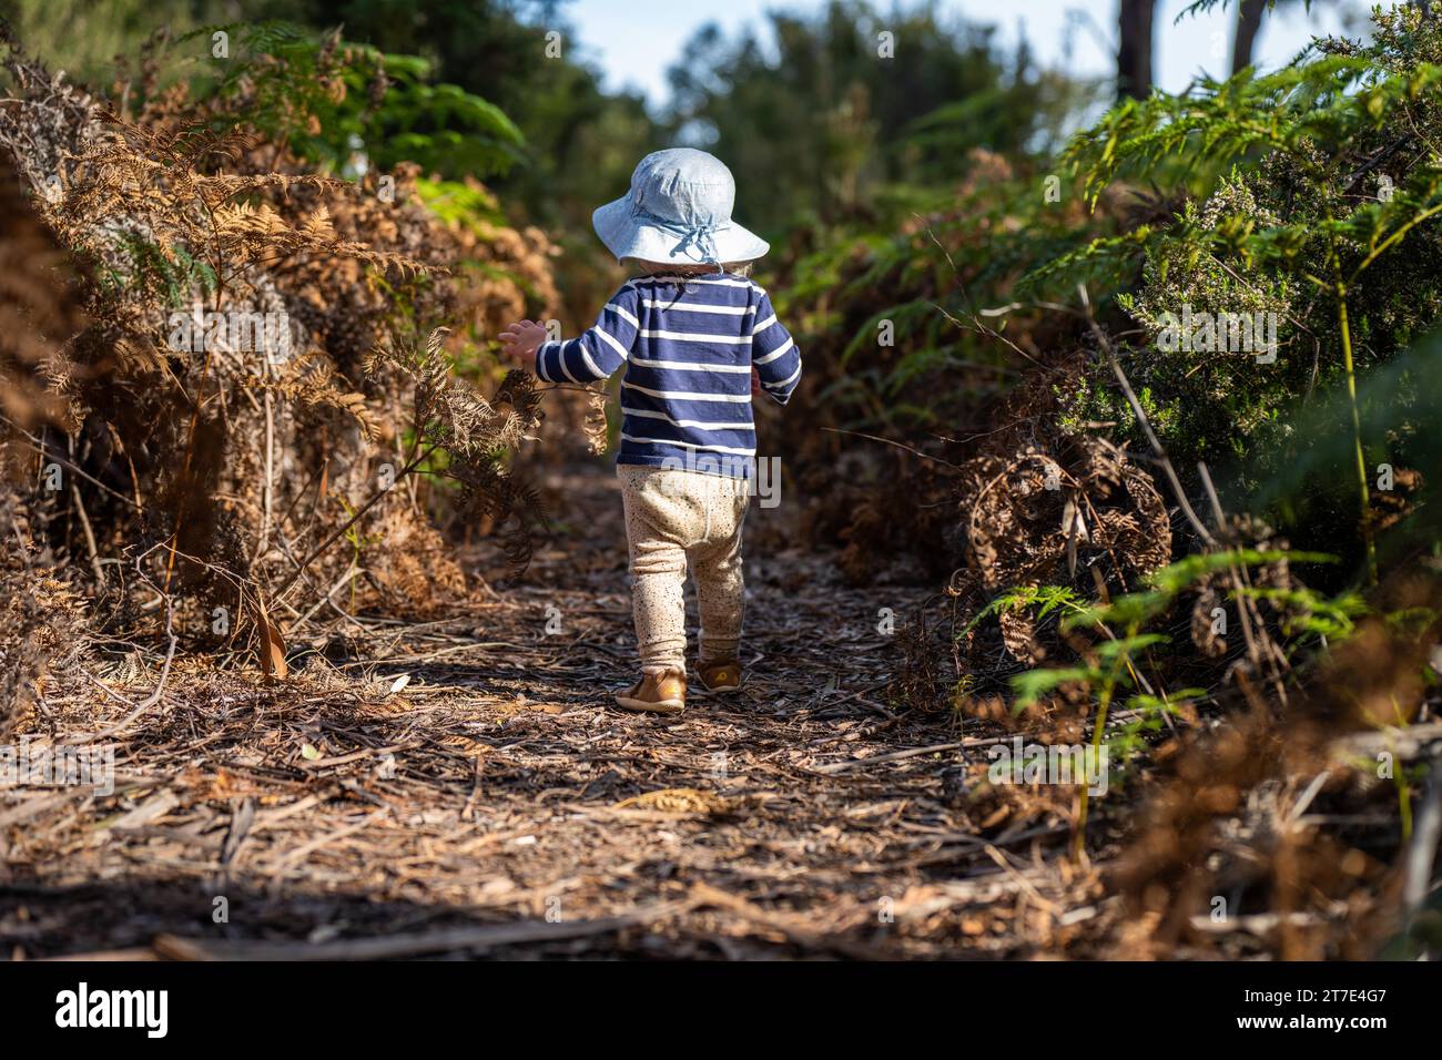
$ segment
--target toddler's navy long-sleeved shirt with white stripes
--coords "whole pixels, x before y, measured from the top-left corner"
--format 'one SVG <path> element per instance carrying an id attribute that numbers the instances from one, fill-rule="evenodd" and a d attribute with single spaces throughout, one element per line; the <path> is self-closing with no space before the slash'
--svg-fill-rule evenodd
<path id="1" fill-rule="evenodd" d="M 616 463 L 737 479 L 756 461 L 751 368 L 782 405 L 802 378 L 800 352 L 770 297 L 731 273 L 639 277 L 585 335 L 536 350 L 545 382 L 604 379 L 623 363 Z"/>

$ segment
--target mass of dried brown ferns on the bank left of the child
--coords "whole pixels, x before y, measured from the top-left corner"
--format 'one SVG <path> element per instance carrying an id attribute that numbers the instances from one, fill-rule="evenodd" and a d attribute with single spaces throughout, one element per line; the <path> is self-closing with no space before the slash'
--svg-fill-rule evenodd
<path id="1" fill-rule="evenodd" d="M 523 561 L 538 506 L 510 479 L 506 453 L 539 418 L 534 387 L 508 379 L 482 395 L 451 378 L 443 335 L 408 371 L 372 355 L 401 320 L 476 327 L 519 309 L 523 291 L 554 301 L 549 249 L 531 249 L 549 247 L 542 235 L 443 224 L 415 193 L 411 166 L 388 175 L 394 196 L 379 195 L 375 173 L 345 182 L 311 172 L 251 121 L 257 92 L 284 102 L 284 56 L 258 61 L 254 84 L 198 97 L 185 84 L 159 88 L 157 39 L 137 79 L 118 74 L 143 91 L 117 92 L 125 102 L 111 105 L 26 56 L 4 26 L 0 42 L 10 74 L 0 265 L 12 264 L 0 268 L 0 414 L 30 438 L 42 424 L 62 427 L 58 451 L 88 476 L 50 513 L 66 528 L 52 542 L 59 557 L 91 551 L 75 536 L 84 506 L 94 547 L 149 555 L 176 606 L 196 609 L 186 626 L 202 630 L 203 604 L 234 604 L 228 578 L 274 599 L 296 567 L 281 539 L 314 554 L 306 575 L 326 584 L 363 549 L 375 575 L 365 594 L 408 594 L 415 609 L 463 591 L 425 519 L 453 498 L 505 525 L 505 548 Z M 332 102 L 346 91 L 348 62 L 335 37 L 322 63 Z M 371 91 L 384 92 L 384 78 Z M 448 278 L 456 262 L 512 260 L 518 278 L 489 268 L 474 290 Z M 56 300 L 37 277 L 61 275 L 62 264 L 75 284 Z M 275 349 L 267 330 L 258 343 L 236 319 L 277 324 L 284 342 Z M 418 467 L 460 489 L 427 503 L 427 480 L 412 479 L 412 503 L 372 503 L 389 456 L 375 447 L 401 447 L 408 423 L 420 425 Z M 25 444 L 35 451 L 56 437 Z M 352 554 L 320 549 L 342 525 Z M 84 575 L 87 564 L 75 568 Z M 115 622 L 137 614 L 120 601 Z"/>

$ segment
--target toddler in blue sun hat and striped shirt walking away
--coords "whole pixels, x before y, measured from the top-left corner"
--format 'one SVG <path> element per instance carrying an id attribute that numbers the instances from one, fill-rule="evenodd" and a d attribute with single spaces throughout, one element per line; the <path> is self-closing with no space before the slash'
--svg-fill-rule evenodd
<path id="1" fill-rule="evenodd" d="M 577 339 L 510 324 L 505 352 L 545 382 L 587 384 L 626 366 L 616 459 L 630 542 L 642 678 L 627 710 L 676 714 L 686 695 L 684 587 L 696 581 L 698 676 L 741 686 L 741 524 L 756 464 L 751 398 L 784 405 L 800 353 L 750 262 L 769 245 L 731 221 L 731 172 L 688 147 L 642 159 L 630 192 L 596 211 L 601 242 L 639 265 Z"/>

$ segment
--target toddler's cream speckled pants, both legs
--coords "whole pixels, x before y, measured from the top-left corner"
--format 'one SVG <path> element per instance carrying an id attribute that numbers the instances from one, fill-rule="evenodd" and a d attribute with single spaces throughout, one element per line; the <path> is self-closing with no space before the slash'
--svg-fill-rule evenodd
<path id="1" fill-rule="evenodd" d="M 746 479 L 620 464 L 632 610 L 642 671 L 686 666 L 686 561 L 696 580 L 701 661 L 737 658 L 744 609 Z"/>

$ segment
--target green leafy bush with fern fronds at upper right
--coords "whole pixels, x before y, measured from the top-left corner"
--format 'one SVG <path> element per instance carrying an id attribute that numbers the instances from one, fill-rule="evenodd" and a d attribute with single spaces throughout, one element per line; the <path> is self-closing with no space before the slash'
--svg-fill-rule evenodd
<path id="1" fill-rule="evenodd" d="M 1368 552 L 1377 461 L 1367 450 L 1396 464 L 1417 454 L 1364 437 L 1354 398 L 1343 420 L 1306 434 L 1296 410 L 1337 391 L 1355 395 L 1361 376 L 1442 316 L 1442 229 L 1433 224 L 1442 212 L 1442 27 L 1412 6 L 1374 17 L 1371 43 L 1318 40 L 1275 74 L 1246 71 L 1182 95 L 1128 101 L 1077 136 L 1066 160 L 1092 196 L 1125 179 L 1206 198 L 1168 224 L 1092 241 L 1038 270 L 1054 277 L 1097 258 L 1141 265 L 1139 286 L 1119 293 L 1144 336 L 1128 345 L 1126 365 L 1180 463 L 1230 459 L 1237 485 L 1255 489 L 1335 431 L 1350 434 L 1344 470 L 1361 505 L 1351 522 Z M 1198 348 L 1165 349 L 1164 314 L 1180 317 L 1184 307 L 1275 314 L 1275 363 L 1217 349 L 1200 326 Z M 1102 378 L 1089 374 L 1071 420 L 1118 421 L 1135 437 Z M 1397 384 L 1397 405 L 1433 385 L 1417 375 Z M 1399 427 L 1405 436 L 1407 425 Z M 1315 519 L 1345 544 L 1324 511 L 1334 503 L 1324 489 L 1292 516 Z"/>

